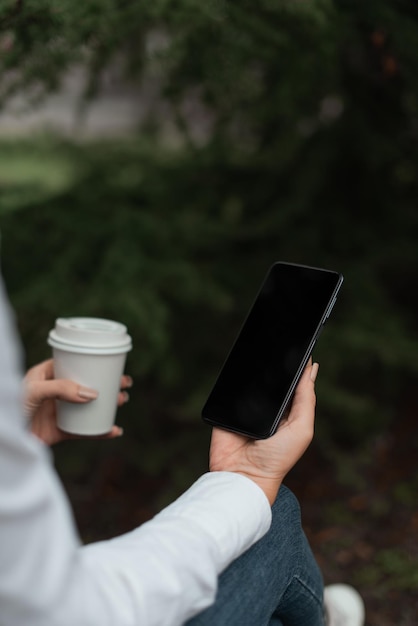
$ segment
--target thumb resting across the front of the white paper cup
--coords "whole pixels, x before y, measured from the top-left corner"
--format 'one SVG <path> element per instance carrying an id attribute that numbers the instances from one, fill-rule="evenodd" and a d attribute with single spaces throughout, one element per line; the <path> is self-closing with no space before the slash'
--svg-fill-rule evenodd
<path id="1" fill-rule="evenodd" d="M 95 389 L 65 379 L 32 381 L 26 386 L 26 402 L 30 405 L 39 406 L 48 399 L 84 403 L 95 400 L 98 395 Z"/>

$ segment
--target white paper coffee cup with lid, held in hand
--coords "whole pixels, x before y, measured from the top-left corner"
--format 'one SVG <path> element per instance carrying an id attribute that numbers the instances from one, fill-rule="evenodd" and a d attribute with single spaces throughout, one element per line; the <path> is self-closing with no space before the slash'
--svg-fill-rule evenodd
<path id="1" fill-rule="evenodd" d="M 55 378 L 98 391 L 86 404 L 57 401 L 57 423 L 76 435 L 104 435 L 115 423 L 120 379 L 132 340 L 126 326 L 94 317 L 58 318 L 48 336 Z"/>

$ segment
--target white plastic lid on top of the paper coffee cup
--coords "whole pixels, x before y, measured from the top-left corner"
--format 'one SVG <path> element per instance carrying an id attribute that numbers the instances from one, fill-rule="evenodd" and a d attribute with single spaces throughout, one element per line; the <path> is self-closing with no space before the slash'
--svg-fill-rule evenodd
<path id="1" fill-rule="evenodd" d="M 98 317 L 59 317 L 48 336 L 53 348 L 81 354 L 119 354 L 132 348 L 124 324 Z"/>

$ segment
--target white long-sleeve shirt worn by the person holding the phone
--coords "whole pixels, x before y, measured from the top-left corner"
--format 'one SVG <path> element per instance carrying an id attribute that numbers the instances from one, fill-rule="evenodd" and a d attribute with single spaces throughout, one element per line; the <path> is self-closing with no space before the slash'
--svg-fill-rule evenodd
<path id="1" fill-rule="evenodd" d="M 209 606 L 220 572 L 270 526 L 261 489 L 208 473 L 136 530 L 82 546 L 25 427 L 19 361 L 0 283 L 0 626 L 175 626 Z"/>

